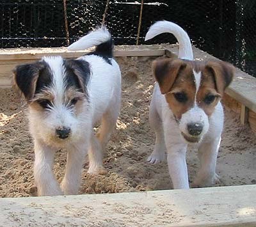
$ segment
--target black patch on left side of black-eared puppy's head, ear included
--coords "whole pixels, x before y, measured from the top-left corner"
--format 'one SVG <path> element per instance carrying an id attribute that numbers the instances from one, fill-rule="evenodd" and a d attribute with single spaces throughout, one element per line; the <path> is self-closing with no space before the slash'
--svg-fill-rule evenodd
<path id="1" fill-rule="evenodd" d="M 15 82 L 27 100 L 31 100 L 35 93 L 49 86 L 52 81 L 51 70 L 45 61 L 18 65 L 13 72 Z"/>

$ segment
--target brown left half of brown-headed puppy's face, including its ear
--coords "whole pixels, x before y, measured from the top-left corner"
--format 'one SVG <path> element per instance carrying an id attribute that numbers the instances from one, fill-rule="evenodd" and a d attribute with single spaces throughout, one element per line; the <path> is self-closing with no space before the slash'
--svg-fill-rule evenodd
<path id="1" fill-rule="evenodd" d="M 178 120 L 195 102 L 195 81 L 193 62 L 182 59 L 163 59 L 155 61 L 153 72 L 161 93 Z"/>

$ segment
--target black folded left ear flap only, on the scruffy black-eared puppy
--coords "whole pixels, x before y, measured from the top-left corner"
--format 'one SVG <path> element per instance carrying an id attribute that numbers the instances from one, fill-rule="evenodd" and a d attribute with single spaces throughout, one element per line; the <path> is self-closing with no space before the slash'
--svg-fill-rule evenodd
<path id="1" fill-rule="evenodd" d="M 36 83 L 40 72 L 45 68 L 45 64 L 38 61 L 31 64 L 18 65 L 14 70 L 14 84 L 26 100 L 29 102 L 36 91 Z"/>

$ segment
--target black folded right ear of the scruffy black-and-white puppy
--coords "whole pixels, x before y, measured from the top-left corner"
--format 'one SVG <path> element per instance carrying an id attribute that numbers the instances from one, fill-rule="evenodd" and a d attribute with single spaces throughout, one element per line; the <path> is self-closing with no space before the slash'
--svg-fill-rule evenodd
<path id="1" fill-rule="evenodd" d="M 90 65 L 87 61 L 80 59 L 65 60 L 68 81 L 72 81 L 77 88 L 86 93 L 86 84 L 90 79 Z"/>

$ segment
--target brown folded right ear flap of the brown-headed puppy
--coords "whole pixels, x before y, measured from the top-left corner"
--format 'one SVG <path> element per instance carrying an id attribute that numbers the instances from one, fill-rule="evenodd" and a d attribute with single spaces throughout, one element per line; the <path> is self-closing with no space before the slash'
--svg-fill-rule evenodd
<path id="1" fill-rule="evenodd" d="M 235 67 L 225 61 L 209 61 L 205 70 L 214 76 L 216 89 L 223 96 L 225 89 L 232 82 Z"/>

